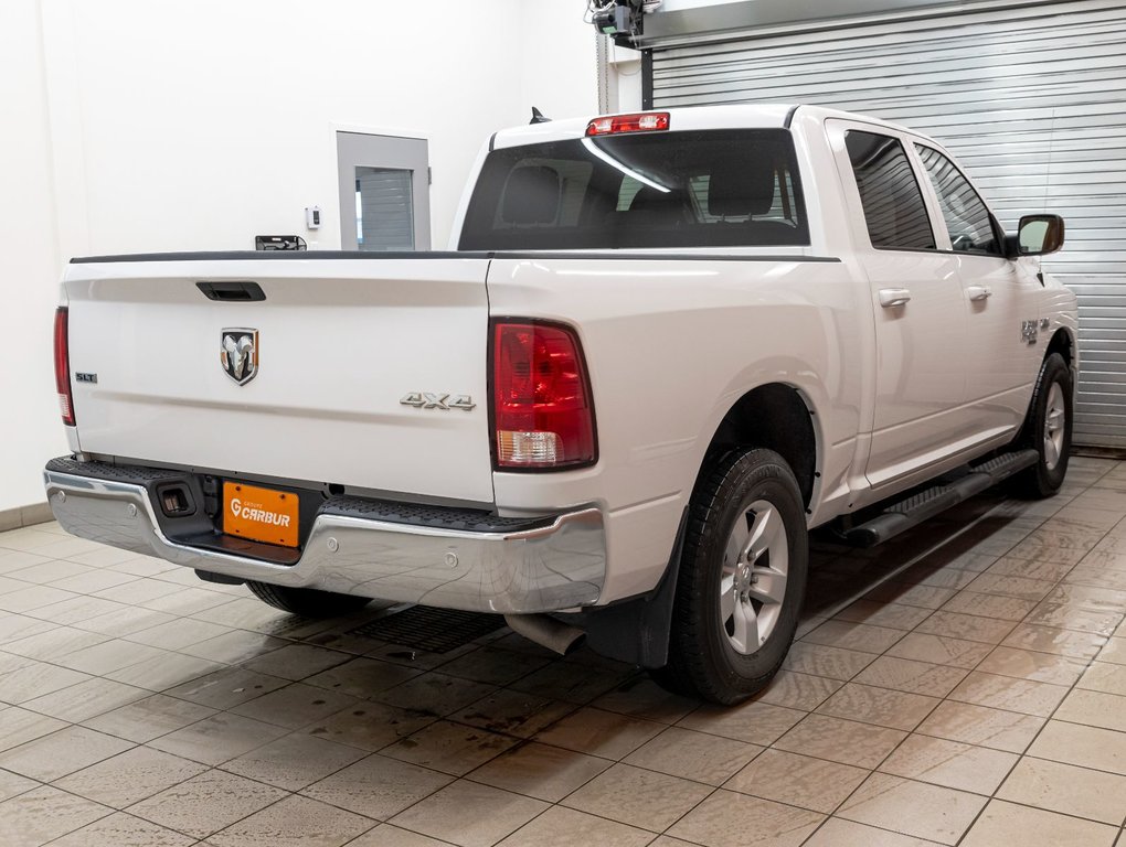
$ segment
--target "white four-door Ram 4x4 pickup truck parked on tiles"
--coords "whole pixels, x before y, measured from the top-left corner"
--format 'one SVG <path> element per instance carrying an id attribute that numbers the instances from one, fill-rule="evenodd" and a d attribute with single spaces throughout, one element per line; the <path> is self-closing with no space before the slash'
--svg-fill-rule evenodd
<path id="1" fill-rule="evenodd" d="M 1067 467 L 1074 296 L 931 138 L 841 111 L 537 123 L 450 252 L 77 259 L 60 523 L 267 603 L 504 614 L 721 703 L 807 530 L 872 544 Z"/>

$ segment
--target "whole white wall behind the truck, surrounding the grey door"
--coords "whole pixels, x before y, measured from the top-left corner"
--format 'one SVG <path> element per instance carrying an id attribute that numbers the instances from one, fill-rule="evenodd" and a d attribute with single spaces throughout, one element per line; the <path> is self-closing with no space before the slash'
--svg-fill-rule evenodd
<path id="1" fill-rule="evenodd" d="M 337 249 L 339 128 L 429 139 L 443 249 L 495 129 L 526 123 L 533 105 L 597 109 L 583 0 L 5 7 L 0 511 L 42 501 L 43 461 L 65 452 L 50 342 L 69 258 L 244 250 L 260 233 Z M 305 228 L 313 205 L 319 231 Z"/>

